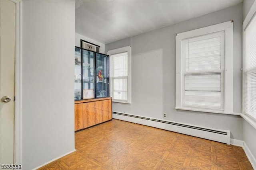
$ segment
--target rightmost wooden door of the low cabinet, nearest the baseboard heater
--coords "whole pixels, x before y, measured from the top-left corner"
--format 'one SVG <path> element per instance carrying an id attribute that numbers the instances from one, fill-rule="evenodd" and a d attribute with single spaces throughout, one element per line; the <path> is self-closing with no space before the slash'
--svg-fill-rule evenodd
<path id="1" fill-rule="evenodd" d="M 112 119 L 111 100 L 100 101 L 100 123 Z"/>

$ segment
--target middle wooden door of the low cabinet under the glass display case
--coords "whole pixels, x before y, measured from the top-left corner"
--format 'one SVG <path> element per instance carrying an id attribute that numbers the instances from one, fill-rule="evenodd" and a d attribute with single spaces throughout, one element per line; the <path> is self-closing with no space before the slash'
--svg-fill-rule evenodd
<path id="1" fill-rule="evenodd" d="M 99 102 L 84 103 L 84 128 L 99 123 Z"/>

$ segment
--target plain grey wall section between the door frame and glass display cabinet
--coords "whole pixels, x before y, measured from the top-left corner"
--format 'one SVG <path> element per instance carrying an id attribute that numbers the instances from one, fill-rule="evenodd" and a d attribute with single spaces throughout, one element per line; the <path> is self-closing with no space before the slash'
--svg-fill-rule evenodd
<path id="1" fill-rule="evenodd" d="M 22 167 L 74 150 L 73 0 L 23 1 Z"/>

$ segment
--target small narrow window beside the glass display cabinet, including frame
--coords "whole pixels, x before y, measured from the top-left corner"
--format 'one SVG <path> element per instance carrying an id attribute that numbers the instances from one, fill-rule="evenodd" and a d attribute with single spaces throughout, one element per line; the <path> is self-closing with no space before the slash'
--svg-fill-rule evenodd
<path id="1" fill-rule="evenodd" d="M 108 51 L 110 55 L 110 96 L 113 102 L 131 103 L 131 47 Z"/>

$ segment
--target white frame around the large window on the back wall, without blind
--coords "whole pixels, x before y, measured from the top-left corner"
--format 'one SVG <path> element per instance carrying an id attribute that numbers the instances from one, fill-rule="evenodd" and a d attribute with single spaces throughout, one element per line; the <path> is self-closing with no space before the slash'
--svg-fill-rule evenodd
<path id="1" fill-rule="evenodd" d="M 175 109 L 211 113 L 233 113 L 233 21 L 176 34 L 176 107 Z M 204 109 L 182 106 L 182 39 L 224 31 L 224 109 Z M 236 114 L 237 115 L 237 114 Z M 239 113 L 238 113 L 239 115 Z"/>

